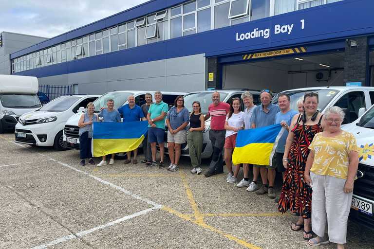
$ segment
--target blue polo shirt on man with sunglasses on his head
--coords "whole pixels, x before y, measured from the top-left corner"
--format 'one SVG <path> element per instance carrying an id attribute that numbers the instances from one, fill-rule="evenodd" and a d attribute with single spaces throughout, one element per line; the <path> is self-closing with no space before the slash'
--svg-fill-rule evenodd
<path id="1" fill-rule="evenodd" d="M 253 109 L 251 124 L 255 124 L 256 128 L 274 125 L 275 115 L 280 111 L 280 108 L 270 103 L 267 107 L 269 111 L 266 113 L 263 111 L 262 104 Z"/>

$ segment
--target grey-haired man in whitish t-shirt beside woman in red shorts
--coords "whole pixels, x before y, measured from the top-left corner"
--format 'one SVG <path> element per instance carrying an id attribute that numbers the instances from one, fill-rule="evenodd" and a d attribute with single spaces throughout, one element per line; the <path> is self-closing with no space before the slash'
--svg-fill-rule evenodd
<path id="1" fill-rule="evenodd" d="M 243 92 L 242 100 L 246 107 L 244 110 L 244 129 L 248 130 L 252 128 L 251 117 L 252 117 L 253 109 L 256 106 L 255 104 L 253 104 L 253 96 L 249 91 Z M 250 184 L 254 184 L 254 182 L 251 182 L 251 183 L 249 182 L 249 164 L 248 163 L 243 163 L 243 175 L 244 175 L 244 178 L 238 184 L 236 184 L 238 188 L 248 187 L 250 186 Z"/>

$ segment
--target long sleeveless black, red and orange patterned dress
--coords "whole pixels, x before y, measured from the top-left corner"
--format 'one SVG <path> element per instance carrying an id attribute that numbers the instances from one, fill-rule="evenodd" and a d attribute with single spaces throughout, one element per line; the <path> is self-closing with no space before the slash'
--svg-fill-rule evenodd
<path id="1" fill-rule="evenodd" d="M 301 115 L 294 129 L 294 141 L 288 154 L 288 168 L 284 173 L 284 182 L 282 186 L 278 210 L 281 213 L 290 210 L 308 219 L 312 214 L 312 188 L 304 180 L 304 170 L 306 159 L 309 155 L 308 146 L 314 136 L 322 131 L 321 120 L 316 125 L 299 124 Z"/>

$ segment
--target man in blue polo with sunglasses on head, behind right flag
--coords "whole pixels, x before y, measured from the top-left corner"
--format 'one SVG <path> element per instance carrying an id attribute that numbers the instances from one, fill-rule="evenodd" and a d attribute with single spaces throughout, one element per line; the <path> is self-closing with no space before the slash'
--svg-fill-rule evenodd
<path id="1" fill-rule="evenodd" d="M 274 125 L 275 115 L 279 112 L 279 107 L 271 104 L 271 94 L 269 90 L 262 90 L 260 94 L 261 105 L 253 109 L 251 123 L 252 128 L 260 128 L 268 125 Z M 259 176 L 259 170 L 261 173 L 262 187 L 256 191 L 257 195 L 263 195 L 268 193 L 269 198 L 275 198 L 274 182 L 269 185 L 268 183 L 268 169 L 270 176 L 274 168 L 263 165 L 253 165 L 253 188 L 249 189 L 249 192 L 253 192 L 257 189 L 257 178 Z"/>

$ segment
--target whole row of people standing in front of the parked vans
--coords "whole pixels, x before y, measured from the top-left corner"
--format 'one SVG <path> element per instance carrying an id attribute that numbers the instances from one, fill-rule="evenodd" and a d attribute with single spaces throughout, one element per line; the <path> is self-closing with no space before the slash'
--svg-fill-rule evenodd
<path id="1" fill-rule="evenodd" d="M 344 248 L 346 243 L 347 220 L 350 211 L 353 184 L 358 166 L 358 152 L 355 137 L 340 129 L 344 111 L 340 107 L 329 107 L 324 114 L 318 111 L 318 93 L 306 92 L 298 101 L 298 111 L 290 108 L 290 96 L 280 94 L 278 105 L 271 103 L 269 90 L 262 90 L 261 105 L 255 106 L 250 92 L 242 94 L 245 109 L 241 109 L 241 100 L 232 98 L 227 104 L 220 100 L 220 93 L 212 93 L 212 104 L 203 115 L 200 103 L 193 102 L 192 112 L 184 106 L 183 96 L 175 99 L 174 106 L 162 101 L 162 93 L 146 95 L 146 104 L 135 105 L 134 97 L 129 96 L 128 104 L 113 109 L 109 100 L 107 108 L 96 117 L 93 104 L 87 106 L 78 126 L 81 147 L 81 165 L 85 159 L 93 165 L 91 155 L 92 123 L 103 118 L 104 122 L 123 122 L 148 120 L 148 138 L 143 141 L 147 166 L 164 167 L 164 134 L 168 129 L 168 170 L 179 169 L 181 145 L 188 144 L 192 164 L 192 174 L 202 173 L 201 154 L 205 121 L 211 119 L 209 140 L 212 144 L 212 157 L 205 177 L 224 173 L 224 161 L 228 171 L 226 181 L 237 187 L 246 187 L 248 192 L 257 195 L 267 194 L 275 198 L 274 183 L 276 172 L 282 175 L 281 195 L 276 199 L 278 210 L 288 210 L 299 216 L 291 225 L 292 231 L 303 230 L 303 239 L 311 246 L 329 242 Z M 165 122 L 167 127 L 165 126 Z M 243 179 L 237 182 L 241 165 L 232 164 L 238 131 L 280 124 L 284 132 L 278 140 L 272 165 L 243 164 Z M 187 126 L 189 127 L 187 128 Z M 156 162 L 156 144 L 160 148 L 160 161 Z M 224 155 L 224 161 L 223 161 Z M 136 164 L 136 150 L 132 163 Z M 106 157 L 97 166 L 106 165 Z M 125 163 L 131 162 L 131 152 Z M 109 162 L 114 163 L 114 158 Z M 253 168 L 253 178 L 249 180 L 249 169 Z M 261 176 L 262 184 L 258 183 Z M 261 186 L 261 187 L 260 187 Z M 312 208 L 313 207 L 313 208 Z M 327 224 L 327 230 L 326 230 Z M 313 238 L 313 232 L 317 235 Z M 328 236 L 325 234 L 328 232 Z"/>

